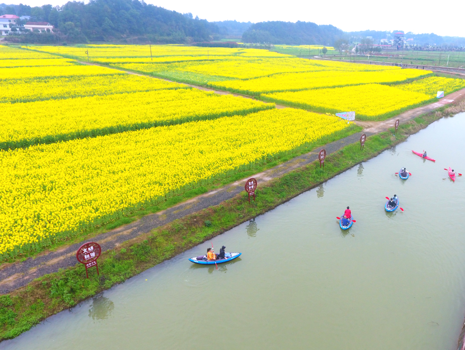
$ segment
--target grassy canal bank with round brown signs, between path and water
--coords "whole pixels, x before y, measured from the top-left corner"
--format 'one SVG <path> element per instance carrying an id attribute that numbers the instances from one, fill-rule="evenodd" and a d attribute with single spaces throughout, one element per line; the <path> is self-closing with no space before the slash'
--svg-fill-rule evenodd
<path id="1" fill-rule="evenodd" d="M 465 110 L 465 102 L 443 108 L 445 113 Z M 425 128 L 442 117 L 442 112 L 431 112 L 401 125 L 397 136 L 393 130 L 367 139 L 360 151 L 359 143 L 351 144 L 328 155 L 325 168 L 314 162 L 262 185 L 257 200 L 247 201 L 245 192 L 220 205 L 204 209 L 175 220 L 128 241 L 115 250 L 102 254 L 100 276 L 85 268 L 75 267 L 42 276 L 28 286 L 0 296 L 0 340 L 13 338 L 44 318 L 76 305 L 111 286 L 121 283 L 162 261 L 190 249 L 222 232 L 262 214 L 296 195 L 311 189 L 354 165 L 375 157 L 383 150 L 404 141 L 409 135 Z"/>

